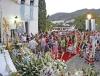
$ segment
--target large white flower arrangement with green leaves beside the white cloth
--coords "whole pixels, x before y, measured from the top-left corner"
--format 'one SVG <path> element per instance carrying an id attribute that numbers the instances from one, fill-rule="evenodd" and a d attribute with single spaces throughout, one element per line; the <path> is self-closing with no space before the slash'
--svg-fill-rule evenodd
<path id="1" fill-rule="evenodd" d="M 67 69 L 66 62 L 52 59 L 50 52 L 29 54 L 29 60 L 18 60 L 13 57 L 13 62 L 22 76 L 61 76 Z"/>

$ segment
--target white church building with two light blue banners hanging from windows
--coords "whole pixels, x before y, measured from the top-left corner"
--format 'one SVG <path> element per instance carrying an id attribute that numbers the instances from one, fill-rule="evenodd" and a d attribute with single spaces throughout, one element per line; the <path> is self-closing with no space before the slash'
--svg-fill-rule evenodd
<path id="1" fill-rule="evenodd" d="M 0 0 L 0 27 L 2 18 L 10 24 L 9 33 L 38 33 L 38 1 L 39 0 Z M 12 30 L 12 31 L 11 31 Z M 0 29 L 2 40 L 2 27 Z"/>

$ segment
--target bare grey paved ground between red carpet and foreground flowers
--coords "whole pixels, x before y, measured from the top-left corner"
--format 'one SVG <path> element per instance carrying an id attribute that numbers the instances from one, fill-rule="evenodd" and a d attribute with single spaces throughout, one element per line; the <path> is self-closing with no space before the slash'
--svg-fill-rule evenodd
<path id="1" fill-rule="evenodd" d="M 79 69 L 80 67 L 85 68 L 87 66 L 88 66 L 88 63 L 85 62 L 84 58 L 81 58 L 77 55 L 68 61 L 67 71 L 72 71 L 73 67 L 75 67 L 76 69 Z M 94 69 L 97 71 L 100 71 L 100 61 L 95 62 Z"/>

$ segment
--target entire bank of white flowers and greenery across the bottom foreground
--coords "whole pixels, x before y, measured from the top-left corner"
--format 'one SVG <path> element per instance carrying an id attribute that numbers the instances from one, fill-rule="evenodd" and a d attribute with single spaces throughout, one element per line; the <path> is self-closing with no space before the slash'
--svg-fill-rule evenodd
<path id="1" fill-rule="evenodd" d="M 61 59 L 54 60 L 50 52 L 28 54 L 29 59 L 24 61 L 12 57 L 13 62 L 22 76 L 97 76 L 98 72 L 93 69 L 92 65 L 87 68 L 79 68 L 67 72 L 67 63 Z"/>

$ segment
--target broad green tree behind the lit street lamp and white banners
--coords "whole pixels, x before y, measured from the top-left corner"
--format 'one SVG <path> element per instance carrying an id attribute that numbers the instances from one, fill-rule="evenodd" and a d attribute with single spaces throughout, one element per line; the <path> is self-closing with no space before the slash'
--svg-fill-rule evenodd
<path id="1" fill-rule="evenodd" d="M 96 20 L 97 30 L 100 30 L 100 28 L 99 28 L 100 27 L 99 14 L 94 13 L 94 12 L 90 12 L 90 14 L 92 15 L 92 19 Z M 80 31 L 84 31 L 86 19 L 87 19 L 87 14 L 83 14 L 83 15 L 79 15 L 79 16 L 75 17 L 75 21 L 74 21 L 75 28 L 79 29 Z"/>

